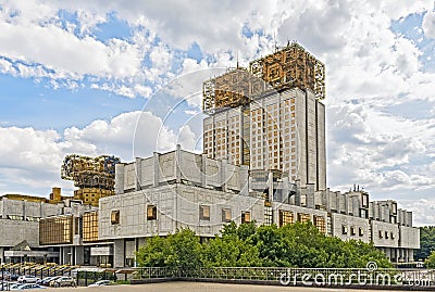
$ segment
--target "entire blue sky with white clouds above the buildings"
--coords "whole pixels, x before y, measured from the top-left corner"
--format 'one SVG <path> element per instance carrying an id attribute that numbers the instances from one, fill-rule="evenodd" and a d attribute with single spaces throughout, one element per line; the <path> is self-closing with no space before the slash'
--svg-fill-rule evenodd
<path id="1" fill-rule="evenodd" d="M 0 194 L 65 155 L 201 151 L 202 81 L 296 40 L 326 67 L 327 186 L 435 223 L 435 2 L 0 0 Z"/>

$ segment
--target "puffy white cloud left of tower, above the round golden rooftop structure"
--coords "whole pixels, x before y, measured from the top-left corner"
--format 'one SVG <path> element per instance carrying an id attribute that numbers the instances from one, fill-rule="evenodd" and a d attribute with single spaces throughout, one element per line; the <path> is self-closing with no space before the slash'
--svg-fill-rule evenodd
<path id="1" fill-rule="evenodd" d="M 72 183 L 60 179 L 65 155 L 111 154 L 130 162 L 153 151 L 174 150 L 177 143 L 194 150 L 196 136 L 188 125 L 174 132 L 150 112 L 129 112 L 111 120 L 94 120 L 84 128 L 55 130 L 0 127 L 0 186 L 2 192 L 47 190 Z M 18 189 L 9 189 L 20 186 Z"/>

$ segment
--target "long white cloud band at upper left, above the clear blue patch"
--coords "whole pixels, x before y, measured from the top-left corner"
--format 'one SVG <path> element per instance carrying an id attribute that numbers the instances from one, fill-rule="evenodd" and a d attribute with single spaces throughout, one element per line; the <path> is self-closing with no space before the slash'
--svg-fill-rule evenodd
<path id="1" fill-rule="evenodd" d="M 108 46 L 91 38 L 78 39 L 54 25 L 18 26 L 0 23 L 0 54 L 11 60 L 42 64 L 71 76 L 134 76 L 139 69 L 134 46 L 113 40 Z"/>

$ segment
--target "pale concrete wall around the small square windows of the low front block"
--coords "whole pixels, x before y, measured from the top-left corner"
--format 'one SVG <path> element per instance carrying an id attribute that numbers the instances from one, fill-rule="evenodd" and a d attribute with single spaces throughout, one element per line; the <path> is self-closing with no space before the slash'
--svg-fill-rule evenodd
<path id="1" fill-rule="evenodd" d="M 156 205 L 158 219 L 147 220 L 147 205 Z M 201 220 L 199 206 L 210 206 L 210 220 Z M 187 185 L 167 185 L 100 200 L 99 237 L 102 240 L 166 236 L 177 228 L 189 227 L 201 237 L 213 237 L 223 227 L 222 208 L 232 210 L 232 219 L 241 223 L 241 212 L 263 221 L 263 200 Z M 120 211 L 120 224 L 110 220 Z"/>

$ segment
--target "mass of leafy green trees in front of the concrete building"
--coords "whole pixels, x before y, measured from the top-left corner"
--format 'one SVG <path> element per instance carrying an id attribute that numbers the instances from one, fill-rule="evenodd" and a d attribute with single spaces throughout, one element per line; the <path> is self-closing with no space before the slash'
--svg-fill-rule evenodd
<path id="1" fill-rule="evenodd" d="M 181 268 L 364 268 L 369 262 L 391 267 L 385 254 L 373 244 L 327 237 L 311 223 L 279 228 L 231 223 L 221 236 L 202 244 L 192 230 L 181 229 L 166 238 L 148 240 L 137 253 L 137 261 L 139 266 Z"/>

